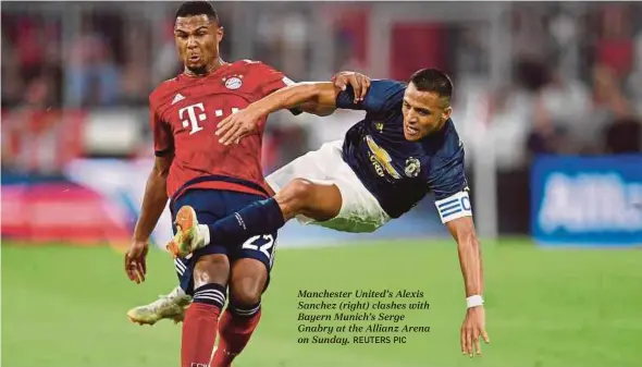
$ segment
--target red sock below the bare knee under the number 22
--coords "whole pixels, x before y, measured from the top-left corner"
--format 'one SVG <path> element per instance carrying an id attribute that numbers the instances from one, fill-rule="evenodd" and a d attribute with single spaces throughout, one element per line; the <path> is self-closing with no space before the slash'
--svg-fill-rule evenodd
<path id="1" fill-rule="evenodd" d="M 230 311 L 230 308 L 225 309 L 219 328 L 221 339 L 210 367 L 230 367 L 249 342 L 260 319 L 260 308 L 251 316 L 240 316 Z"/>

